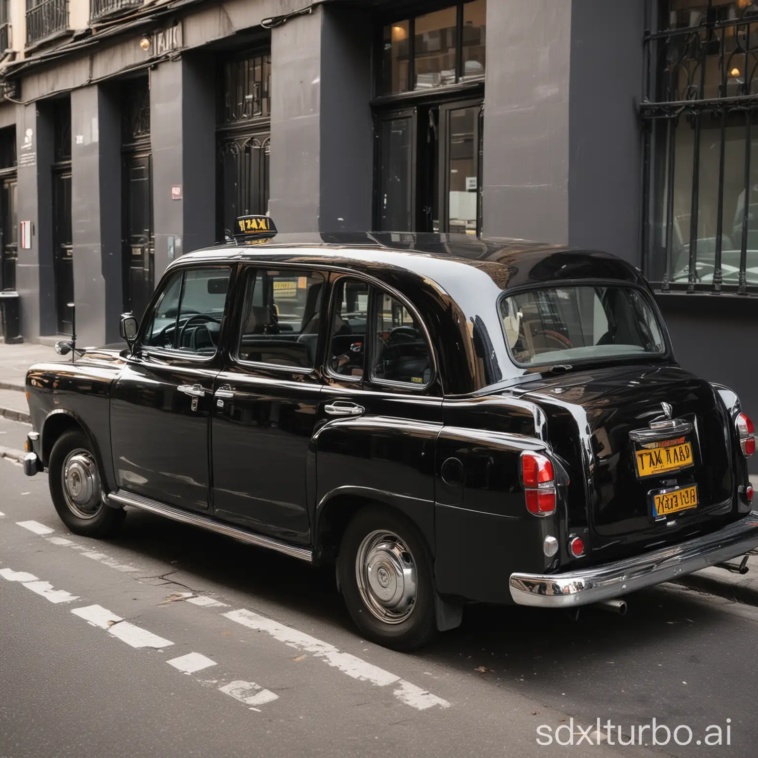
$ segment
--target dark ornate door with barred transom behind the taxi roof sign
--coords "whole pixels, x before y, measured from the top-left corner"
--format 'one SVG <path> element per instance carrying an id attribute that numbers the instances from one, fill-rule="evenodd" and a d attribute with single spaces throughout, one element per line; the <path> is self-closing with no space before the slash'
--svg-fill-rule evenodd
<path id="1" fill-rule="evenodd" d="M 217 127 L 218 236 L 237 216 L 268 212 L 271 154 L 271 53 L 221 62 Z"/>

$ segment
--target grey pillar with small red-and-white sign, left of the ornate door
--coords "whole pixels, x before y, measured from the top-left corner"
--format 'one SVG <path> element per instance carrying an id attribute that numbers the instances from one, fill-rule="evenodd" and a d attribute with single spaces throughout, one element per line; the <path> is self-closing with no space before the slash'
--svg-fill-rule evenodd
<path id="1" fill-rule="evenodd" d="M 215 242 L 214 72 L 198 54 L 158 64 L 150 76 L 156 283 L 171 260 Z"/>

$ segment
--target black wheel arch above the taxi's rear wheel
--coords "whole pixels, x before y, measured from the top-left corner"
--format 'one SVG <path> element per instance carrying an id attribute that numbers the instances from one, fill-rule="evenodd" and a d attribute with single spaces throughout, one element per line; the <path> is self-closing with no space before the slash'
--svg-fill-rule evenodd
<path id="1" fill-rule="evenodd" d="M 313 530 L 314 562 L 334 562 L 347 525 L 365 506 L 389 508 L 408 518 L 418 528 L 429 553 L 434 558 L 434 503 L 399 493 L 373 490 L 370 487 L 343 485 L 321 497 L 316 506 Z"/>

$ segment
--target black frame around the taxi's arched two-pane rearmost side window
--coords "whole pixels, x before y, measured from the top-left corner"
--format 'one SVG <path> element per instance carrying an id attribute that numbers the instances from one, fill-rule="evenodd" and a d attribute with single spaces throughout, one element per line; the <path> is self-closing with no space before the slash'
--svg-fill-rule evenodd
<path id="1" fill-rule="evenodd" d="M 324 376 L 329 377 L 330 379 L 337 380 L 340 382 L 346 382 L 348 384 L 353 384 L 356 387 L 360 387 L 361 389 L 365 389 L 365 384 L 368 385 L 375 385 L 378 387 L 392 387 L 395 389 L 401 389 L 401 390 L 412 390 L 413 393 L 423 392 L 424 390 L 428 390 L 432 385 L 434 385 L 434 382 L 437 381 L 437 376 L 439 375 L 439 371 L 437 369 L 437 353 L 434 351 L 434 346 L 431 341 L 431 336 L 429 334 L 429 330 L 427 328 L 426 323 L 424 322 L 424 319 L 421 318 L 421 315 L 418 312 L 418 309 L 415 308 L 414 305 L 412 305 L 409 300 L 403 296 L 401 293 L 399 293 L 397 290 L 395 290 L 393 287 L 389 287 L 386 283 L 378 281 L 374 279 L 374 277 L 367 276 L 365 274 L 361 274 L 356 271 L 335 271 L 335 274 L 337 274 L 337 277 L 330 280 L 330 292 L 329 292 L 329 309 L 327 311 L 328 319 L 327 319 L 327 343 L 325 345 L 324 353 L 323 353 L 323 365 L 324 365 Z M 424 384 L 410 384 L 409 382 L 398 382 L 398 381 L 391 381 L 388 379 L 381 379 L 374 377 L 374 340 L 368 340 L 368 349 L 365 349 L 363 352 L 363 375 L 360 377 L 350 376 L 349 374 L 337 374 L 336 371 L 332 371 L 331 365 L 330 365 L 330 356 L 331 356 L 331 343 L 332 343 L 332 337 L 334 336 L 334 305 L 335 303 L 335 293 L 337 291 L 337 284 L 340 282 L 341 279 L 355 279 L 359 281 L 365 281 L 365 283 L 368 284 L 368 315 L 366 318 L 366 337 L 365 339 L 368 340 L 368 329 L 371 329 L 371 334 L 374 332 L 374 323 L 377 315 L 377 302 L 378 302 L 378 295 L 379 293 L 384 293 L 393 299 L 396 299 L 400 302 L 403 308 L 405 308 L 412 316 L 418 321 L 418 324 L 421 325 L 421 331 L 423 332 L 424 341 L 427 343 L 427 347 L 429 350 L 429 368 L 430 368 L 430 374 L 429 374 L 429 381 L 424 382 Z"/>

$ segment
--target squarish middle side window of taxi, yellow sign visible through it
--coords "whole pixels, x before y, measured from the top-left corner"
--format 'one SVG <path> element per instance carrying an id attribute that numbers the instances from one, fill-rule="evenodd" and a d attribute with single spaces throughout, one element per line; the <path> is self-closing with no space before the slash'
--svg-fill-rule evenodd
<path id="1" fill-rule="evenodd" d="M 318 271 L 248 268 L 237 358 L 313 368 L 324 281 Z"/>

